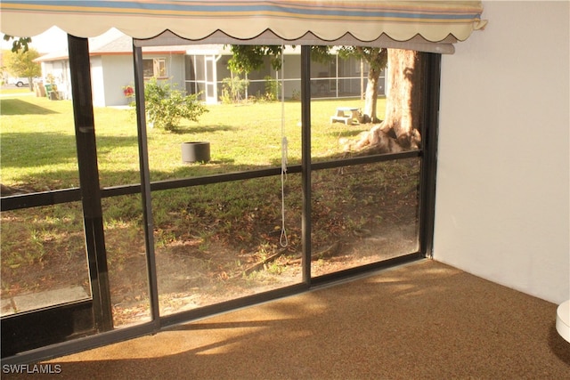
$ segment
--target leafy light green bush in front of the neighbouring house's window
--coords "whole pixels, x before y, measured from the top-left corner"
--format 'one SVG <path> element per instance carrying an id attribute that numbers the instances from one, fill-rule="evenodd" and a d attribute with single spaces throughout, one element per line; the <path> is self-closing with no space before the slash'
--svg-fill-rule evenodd
<path id="1" fill-rule="evenodd" d="M 175 85 L 174 85 L 175 86 Z M 186 94 L 152 77 L 144 85 L 144 105 L 149 121 L 157 128 L 175 131 L 180 120 L 198 121 L 208 109 L 198 101 L 198 93 Z"/>

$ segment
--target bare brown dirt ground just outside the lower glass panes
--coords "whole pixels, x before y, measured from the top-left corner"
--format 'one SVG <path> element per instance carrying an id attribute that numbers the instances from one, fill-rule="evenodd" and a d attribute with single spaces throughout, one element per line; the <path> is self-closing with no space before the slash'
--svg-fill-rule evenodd
<path id="1" fill-rule="evenodd" d="M 338 183 L 339 188 L 343 186 Z M 338 202 L 334 210 L 315 206 L 311 263 L 314 277 L 419 249 L 416 187 L 401 190 L 394 182 L 379 190 L 366 181 L 352 186 L 360 195 L 359 201 L 363 199 L 366 203 L 371 199 L 370 206 L 354 206 L 348 201 Z M 3 215 L 3 223 L 11 222 L 10 217 Z M 354 225 L 354 221 L 359 224 Z M 301 282 L 300 225 L 288 226 L 289 246 L 284 248 L 279 243 L 281 230 L 259 228 L 259 225 L 255 227 L 253 236 L 258 236 L 262 243 L 255 249 L 240 244 L 236 237 L 218 239 L 216 235 L 208 238 L 205 247 L 203 237 L 179 231 L 173 239 L 155 242 L 161 315 Z M 117 327 L 150 319 L 144 241 L 142 234 L 135 235 L 116 229 L 106 231 L 105 236 L 113 319 Z M 61 246 L 61 241 L 58 244 L 57 239 L 43 241 L 45 255 L 26 264 L 6 263 L 3 257 L 2 314 L 10 312 L 12 300 L 19 295 L 80 286 L 85 296 L 89 296 L 90 281 L 82 239 L 82 232 L 78 231 L 61 238 L 67 246 Z M 71 246 L 75 248 L 70 249 Z M 112 251 L 119 248 L 126 254 L 113 255 Z"/>

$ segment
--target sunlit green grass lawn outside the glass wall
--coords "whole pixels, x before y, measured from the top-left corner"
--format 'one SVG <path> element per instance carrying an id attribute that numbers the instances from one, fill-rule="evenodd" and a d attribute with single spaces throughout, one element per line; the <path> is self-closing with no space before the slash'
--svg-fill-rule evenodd
<path id="1" fill-rule="evenodd" d="M 379 108 L 383 108 L 383 100 Z M 323 159 L 338 155 L 338 137 L 355 136 L 368 125 L 330 125 L 330 116 L 336 107 L 361 107 L 358 100 L 314 101 L 313 157 Z M 0 158 L 2 183 L 28 191 L 45 191 L 78 187 L 77 152 L 75 145 L 73 109 L 70 101 L 50 101 L 35 96 L 0 98 Z M 301 107 L 299 102 L 251 103 L 243 105 L 212 105 L 199 122 L 187 122 L 177 133 L 148 129 L 151 181 L 185 178 L 197 175 L 230 173 L 261 167 L 281 166 L 281 133 L 288 143 L 289 165 L 301 159 Z M 281 124 L 281 114 L 284 115 Z M 102 187 L 140 182 L 136 123 L 133 109 L 94 109 L 97 136 L 98 165 Z M 281 129 L 284 132 L 281 132 Z M 183 141 L 210 141 L 211 162 L 187 164 L 182 162 Z M 191 189 L 157 191 L 152 194 L 153 219 L 159 244 L 167 245 L 179 239 L 185 230 L 216 235 L 231 240 L 236 235 L 246 244 L 252 243 L 252 230 L 273 228 L 280 218 L 280 178 L 262 178 L 246 182 L 218 183 Z M 291 175 L 289 212 L 292 219 L 300 214 L 300 178 Z M 295 190 L 292 190 L 295 189 Z M 318 187 L 315 191 L 318 191 Z M 317 192 L 318 193 L 318 192 Z M 335 203 L 325 197 L 323 203 Z M 141 200 L 138 196 L 105 198 L 102 201 L 109 245 L 116 246 L 115 256 L 129 255 L 133 242 L 123 244 L 125 230 L 140 244 L 142 238 Z M 190 205 L 190 206 L 189 206 Z M 270 205 L 268 207 L 260 205 Z M 291 206 L 294 205 L 294 206 Z M 53 210 L 26 209 L 4 213 L 11 219 L 10 229 L 4 228 L 3 260 L 16 255 L 13 263 L 34 262 L 45 255 L 45 239 L 52 239 L 51 230 L 69 230 L 69 221 L 77 223 L 79 205 L 59 205 Z M 187 214 L 201 215 L 190 222 L 173 217 Z M 44 207 L 45 208 L 45 207 Z M 244 210 L 256 209 L 255 222 L 244 226 Z M 219 224 L 219 221 L 224 223 Z M 5 222 L 5 220 L 4 220 Z M 190 223 L 190 224 L 189 224 Z M 218 223 L 219 225 L 217 225 Z M 216 224 L 216 229 L 208 226 Z M 257 225 L 259 224 L 259 225 Z M 121 226 L 121 229 L 115 229 Z M 176 232 L 173 232 L 176 230 Z M 180 231 L 182 232 L 180 232 Z M 207 232 L 205 232 L 207 231 Z M 117 233 L 117 238 L 113 234 Z M 20 244 L 12 250 L 12 243 Z M 36 243 L 38 244 L 36 244 Z M 41 244 L 39 244 L 41 243 Z M 61 244 L 67 244 L 65 239 Z M 53 247 L 53 249 L 59 249 Z M 69 250 L 69 247 L 62 247 Z M 25 255 L 31 258 L 26 259 Z M 10 255 L 7 253 L 11 252 Z"/>

